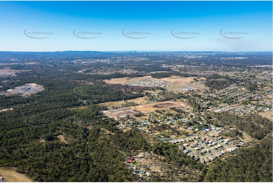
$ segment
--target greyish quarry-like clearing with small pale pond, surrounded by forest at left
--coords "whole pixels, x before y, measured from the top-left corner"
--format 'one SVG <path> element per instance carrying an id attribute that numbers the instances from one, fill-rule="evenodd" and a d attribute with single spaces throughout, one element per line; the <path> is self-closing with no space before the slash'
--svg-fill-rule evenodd
<path id="1" fill-rule="evenodd" d="M 12 94 L 22 94 L 24 97 L 31 94 L 37 93 L 44 90 L 44 87 L 36 83 L 28 83 L 23 86 L 17 86 L 14 89 L 9 89 L 6 92 L 0 92 L 0 95 L 12 95 Z"/>

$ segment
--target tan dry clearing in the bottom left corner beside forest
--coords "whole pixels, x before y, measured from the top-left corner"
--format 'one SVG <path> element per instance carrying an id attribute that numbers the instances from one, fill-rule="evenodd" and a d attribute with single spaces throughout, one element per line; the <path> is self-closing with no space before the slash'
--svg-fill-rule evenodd
<path id="1" fill-rule="evenodd" d="M 0 168 L 0 176 L 7 182 L 33 182 L 27 176 L 16 173 L 12 168 Z"/>

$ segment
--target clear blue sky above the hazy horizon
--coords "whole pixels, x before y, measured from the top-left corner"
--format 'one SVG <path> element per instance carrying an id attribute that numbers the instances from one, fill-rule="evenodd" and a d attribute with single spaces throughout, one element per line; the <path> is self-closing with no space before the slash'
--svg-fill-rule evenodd
<path id="1" fill-rule="evenodd" d="M 0 51 L 272 51 L 272 1 L 0 1 L 0 16 Z"/>

